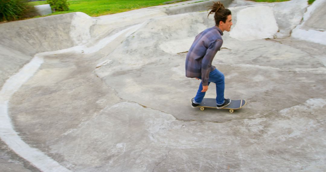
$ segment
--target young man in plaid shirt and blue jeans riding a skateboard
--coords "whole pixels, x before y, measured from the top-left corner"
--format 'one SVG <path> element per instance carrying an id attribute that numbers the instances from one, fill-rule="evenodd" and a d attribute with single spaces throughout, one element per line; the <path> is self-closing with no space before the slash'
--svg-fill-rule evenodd
<path id="1" fill-rule="evenodd" d="M 224 31 L 230 31 L 232 25 L 231 11 L 224 8 L 220 2 L 213 2 L 210 14 L 214 14 L 215 26 L 198 34 L 187 53 L 185 61 L 185 75 L 188 78 L 201 79 L 199 89 L 192 102 L 192 107 L 197 107 L 203 100 L 208 85 L 216 84 L 216 108 L 228 106 L 231 99 L 224 98 L 224 74 L 212 65 L 215 54 L 220 50 Z M 207 16 L 207 17 L 208 17 Z"/>

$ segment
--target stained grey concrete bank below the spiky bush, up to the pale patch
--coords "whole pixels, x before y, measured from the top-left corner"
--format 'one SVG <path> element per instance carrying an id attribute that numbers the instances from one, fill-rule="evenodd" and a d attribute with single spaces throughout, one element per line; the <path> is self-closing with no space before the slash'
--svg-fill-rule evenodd
<path id="1" fill-rule="evenodd" d="M 0 24 L 0 87 L 37 52 L 71 47 L 69 36 L 74 14 Z"/>

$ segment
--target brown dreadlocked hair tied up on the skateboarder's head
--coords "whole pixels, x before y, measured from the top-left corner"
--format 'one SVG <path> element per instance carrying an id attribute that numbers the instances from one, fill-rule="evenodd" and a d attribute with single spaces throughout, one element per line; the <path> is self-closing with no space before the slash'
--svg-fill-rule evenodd
<path id="1" fill-rule="evenodd" d="M 219 25 L 220 21 L 222 22 L 226 22 L 226 19 L 228 18 L 229 15 L 231 15 L 231 11 L 228 8 L 225 8 L 224 5 L 221 2 L 213 2 L 213 6 L 207 6 L 210 7 L 208 8 L 207 11 L 209 11 L 210 9 L 212 9 L 209 13 L 208 16 L 210 14 L 214 14 L 214 19 L 215 19 L 215 24 L 216 26 Z M 207 16 L 207 17 L 208 17 Z"/>

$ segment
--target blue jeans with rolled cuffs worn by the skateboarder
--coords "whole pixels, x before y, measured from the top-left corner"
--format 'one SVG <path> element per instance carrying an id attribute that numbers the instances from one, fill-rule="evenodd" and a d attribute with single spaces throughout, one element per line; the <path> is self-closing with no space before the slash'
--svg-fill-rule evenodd
<path id="1" fill-rule="evenodd" d="M 198 77 L 201 79 L 201 77 Z M 224 74 L 216 68 L 209 73 L 208 85 L 214 82 L 216 84 L 216 105 L 223 105 L 224 103 Z M 199 89 L 194 99 L 194 103 L 200 104 L 204 99 L 206 92 L 201 92 L 203 89 L 202 83 L 200 82 Z"/>

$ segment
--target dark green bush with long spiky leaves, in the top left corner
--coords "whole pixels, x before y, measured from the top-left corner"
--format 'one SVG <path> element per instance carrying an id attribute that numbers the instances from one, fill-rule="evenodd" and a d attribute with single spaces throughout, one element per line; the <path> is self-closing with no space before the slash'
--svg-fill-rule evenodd
<path id="1" fill-rule="evenodd" d="M 0 0 L 0 22 L 38 16 L 34 6 L 25 0 Z"/>

